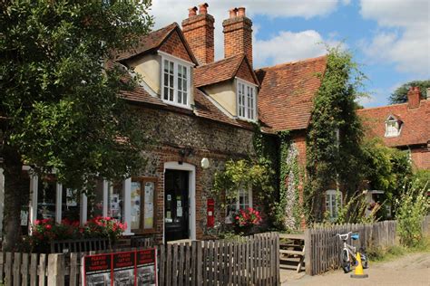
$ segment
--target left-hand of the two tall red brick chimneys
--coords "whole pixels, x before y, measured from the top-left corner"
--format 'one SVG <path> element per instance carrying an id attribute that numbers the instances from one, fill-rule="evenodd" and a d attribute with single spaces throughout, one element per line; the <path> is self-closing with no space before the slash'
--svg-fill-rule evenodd
<path id="1" fill-rule="evenodd" d="M 200 64 L 214 60 L 213 17 L 208 14 L 207 3 L 188 9 L 188 18 L 182 21 L 182 32 Z"/>

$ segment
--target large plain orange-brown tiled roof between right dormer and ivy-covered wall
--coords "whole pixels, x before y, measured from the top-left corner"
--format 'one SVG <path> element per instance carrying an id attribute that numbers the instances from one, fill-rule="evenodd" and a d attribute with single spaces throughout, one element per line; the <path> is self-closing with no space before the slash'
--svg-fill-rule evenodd
<path id="1" fill-rule="evenodd" d="M 261 85 L 259 114 L 274 130 L 308 128 L 312 100 L 326 70 L 327 57 L 288 62 L 256 71 Z"/>

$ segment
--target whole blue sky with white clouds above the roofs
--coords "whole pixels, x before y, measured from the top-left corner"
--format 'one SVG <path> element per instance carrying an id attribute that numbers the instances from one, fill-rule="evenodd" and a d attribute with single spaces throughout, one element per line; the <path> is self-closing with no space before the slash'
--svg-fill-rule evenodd
<path id="1" fill-rule="evenodd" d="M 181 21 L 203 1 L 152 0 L 155 27 Z M 254 67 L 317 57 L 320 43 L 353 52 L 369 78 L 365 107 L 386 105 L 407 81 L 430 79 L 430 0 L 212 0 L 215 57 L 223 57 L 222 20 L 244 6 L 253 22 Z"/>

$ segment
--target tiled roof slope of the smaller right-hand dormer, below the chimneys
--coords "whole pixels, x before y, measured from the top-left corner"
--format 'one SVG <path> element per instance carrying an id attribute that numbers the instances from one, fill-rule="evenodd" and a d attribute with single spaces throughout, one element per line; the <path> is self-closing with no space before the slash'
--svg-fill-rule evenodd
<path id="1" fill-rule="evenodd" d="M 229 81 L 234 78 L 239 70 L 240 64 L 244 60 L 244 54 L 237 54 L 218 62 L 201 65 L 194 69 L 194 85 L 196 87 L 202 87 L 213 83 Z M 253 73 L 251 70 L 250 72 Z M 255 75 L 253 75 L 253 77 L 255 77 Z M 255 78 L 255 81 L 258 82 L 257 78 Z"/>

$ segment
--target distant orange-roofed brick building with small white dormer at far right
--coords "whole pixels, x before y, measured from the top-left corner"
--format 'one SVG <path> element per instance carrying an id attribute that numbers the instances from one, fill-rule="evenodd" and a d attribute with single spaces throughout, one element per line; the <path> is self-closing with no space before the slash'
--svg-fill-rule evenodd
<path id="1" fill-rule="evenodd" d="M 358 110 L 368 138 L 381 138 L 388 147 L 408 150 L 416 169 L 430 169 L 430 91 L 420 99 L 417 87 L 407 102 Z"/>

